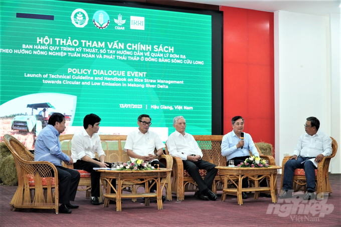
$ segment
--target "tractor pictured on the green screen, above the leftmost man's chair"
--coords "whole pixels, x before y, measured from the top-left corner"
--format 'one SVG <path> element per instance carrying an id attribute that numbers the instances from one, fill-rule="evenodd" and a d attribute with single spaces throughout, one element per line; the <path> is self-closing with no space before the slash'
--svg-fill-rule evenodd
<path id="1" fill-rule="evenodd" d="M 31 115 L 18 115 L 12 120 L 12 130 L 31 131 L 36 135 L 48 124 L 49 108 L 55 108 L 49 102 L 28 104 L 27 108 L 32 108 Z M 41 108 L 39 114 L 33 115 L 33 109 Z"/>

